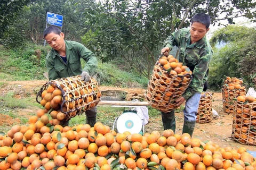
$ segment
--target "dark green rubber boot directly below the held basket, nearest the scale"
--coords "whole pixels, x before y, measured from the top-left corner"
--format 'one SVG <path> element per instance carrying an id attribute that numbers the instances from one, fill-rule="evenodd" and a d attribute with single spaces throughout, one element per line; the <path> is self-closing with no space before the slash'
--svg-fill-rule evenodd
<path id="1" fill-rule="evenodd" d="M 175 133 L 176 122 L 175 122 L 175 114 L 174 111 L 170 113 L 161 113 L 162 114 L 162 122 L 164 126 L 164 130 L 171 129 Z"/>

